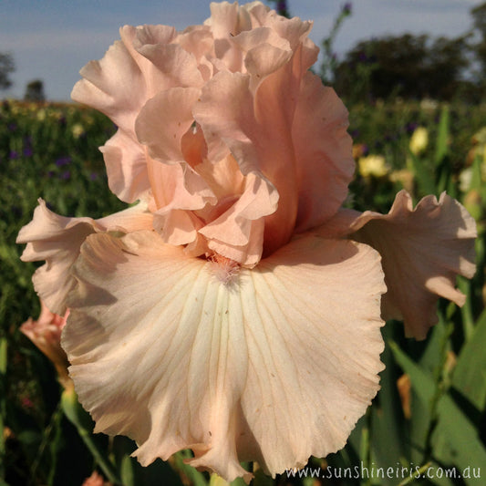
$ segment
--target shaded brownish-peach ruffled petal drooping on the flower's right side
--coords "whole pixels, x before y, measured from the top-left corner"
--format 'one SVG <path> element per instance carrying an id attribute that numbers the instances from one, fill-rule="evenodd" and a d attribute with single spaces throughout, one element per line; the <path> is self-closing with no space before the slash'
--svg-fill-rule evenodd
<path id="1" fill-rule="evenodd" d="M 403 320 L 408 337 L 425 339 L 438 321 L 439 296 L 457 305 L 465 302 L 455 281 L 457 275 L 470 278 L 475 273 L 476 223 L 445 192 L 439 201 L 423 198 L 414 209 L 408 192 L 400 191 L 388 214 L 341 210 L 319 233 L 348 234 L 381 254 L 388 286 L 384 317 Z"/>

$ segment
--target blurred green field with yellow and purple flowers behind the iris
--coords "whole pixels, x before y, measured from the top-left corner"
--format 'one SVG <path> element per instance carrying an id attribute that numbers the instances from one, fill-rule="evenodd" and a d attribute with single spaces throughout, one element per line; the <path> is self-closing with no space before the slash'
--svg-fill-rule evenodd
<path id="1" fill-rule="evenodd" d="M 336 25 L 349 14 L 345 5 Z M 326 41 L 332 45 L 331 36 L 325 48 Z M 336 72 L 332 56 L 328 61 Z M 368 96 L 367 83 L 379 67 L 373 63 L 373 68 L 369 63 L 361 66 L 365 72 L 356 89 L 343 87 L 340 93 L 336 86 L 349 109 L 357 161 L 346 204 L 360 211 L 388 212 L 400 189 L 407 189 L 414 202 L 447 191 L 478 222 L 478 271 L 470 281 L 459 279 L 468 295 L 466 305 L 439 303 L 439 325 L 425 341 L 405 339 L 403 326 L 396 322 L 383 329 L 387 346 L 382 360 L 387 367 L 381 374 L 382 389 L 346 449 L 309 463 L 322 473 L 326 467 L 340 468 L 336 471 L 341 478 L 317 480 L 308 470 L 307 477 L 297 473 L 270 480 L 255 468 L 257 486 L 486 481 L 482 75 L 465 80 L 447 97 L 397 92 L 380 98 Z M 326 78 L 325 73 L 323 69 Z M 38 197 L 67 216 L 98 218 L 123 209 L 108 189 L 98 151 L 115 129 L 103 115 L 74 104 L 31 97 L 0 105 L 0 485 L 77 486 L 95 470 L 104 481 L 127 486 L 220 484 L 186 467 L 183 458 L 188 452 L 142 469 L 129 458 L 135 448 L 129 439 L 91 435 L 88 415 L 72 396 L 65 394 L 61 402 L 55 368 L 19 331 L 28 317 L 39 315 L 40 307 L 31 284 L 36 265 L 20 262 L 23 249 L 16 245 L 16 235 L 31 220 Z M 390 467 L 394 472 L 388 477 Z M 417 470 L 426 475 L 429 471 L 430 477 L 415 478 Z"/>

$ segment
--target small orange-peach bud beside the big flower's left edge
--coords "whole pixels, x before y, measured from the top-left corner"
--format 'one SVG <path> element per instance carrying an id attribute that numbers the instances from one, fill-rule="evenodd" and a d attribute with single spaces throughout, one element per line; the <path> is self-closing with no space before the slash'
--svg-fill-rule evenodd
<path id="1" fill-rule="evenodd" d="M 61 347 L 61 331 L 66 325 L 67 315 L 69 315 L 68 310 L 63 316 L 54 314 L 41 300 L 38 319 L 34 321 L 29 317 L 20 326 L 20 330 L 52 361 L 64 388 L 72 387 L 67 375 L 69 363 L 66 352 Z"/>

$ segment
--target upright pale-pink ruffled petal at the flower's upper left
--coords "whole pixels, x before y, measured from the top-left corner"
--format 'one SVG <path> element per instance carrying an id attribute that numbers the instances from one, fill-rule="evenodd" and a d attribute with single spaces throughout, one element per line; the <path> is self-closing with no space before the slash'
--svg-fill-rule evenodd
<path id="1" fill-rule="evenodd" d="M 124 26 L 121 40 L 105 57 L 80 71 L 83 79 L 71 98 L 98 109 L 119 130 L 101 148 L 109 188 L 119 199 L 134 202 L 150 187 L 145 150 L 135 135 L 135 121 L 147 100 L 175 87 L 202 86 L 194 57 L 171 44 L 176 33 L 169 26 Z"/>

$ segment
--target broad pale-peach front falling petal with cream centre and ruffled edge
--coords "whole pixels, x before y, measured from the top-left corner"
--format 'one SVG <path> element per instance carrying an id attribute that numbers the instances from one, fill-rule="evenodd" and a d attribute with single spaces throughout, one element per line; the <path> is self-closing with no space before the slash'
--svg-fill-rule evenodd
<path id="1" fill-rule="evenodd" d="M 74 274 L 70 375 L 142 464 L 191 448 L 227 481 L 250 480 L 240 460 L 283 472 L 343 447 L 377 393 L 385 286 L 367 245 L 309 235 L 238 270 L 153 232 L 92 234 Z"/>

